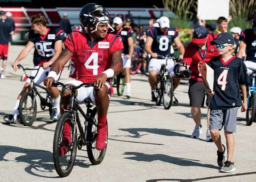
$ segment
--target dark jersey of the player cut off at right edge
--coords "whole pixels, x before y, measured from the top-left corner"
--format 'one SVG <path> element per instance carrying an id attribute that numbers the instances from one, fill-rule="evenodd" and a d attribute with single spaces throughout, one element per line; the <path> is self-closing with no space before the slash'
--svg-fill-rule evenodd
<path id="1" fill-rule="evenodd" d="M 252 29 L 242 31 L 239 37 L 246 44 L 246 60 L 256 62 L 256 35 Z"/>

